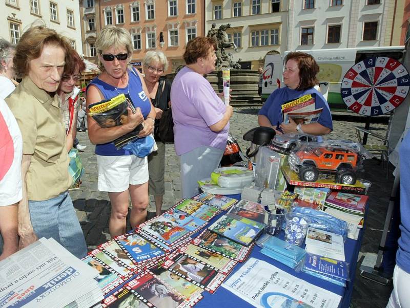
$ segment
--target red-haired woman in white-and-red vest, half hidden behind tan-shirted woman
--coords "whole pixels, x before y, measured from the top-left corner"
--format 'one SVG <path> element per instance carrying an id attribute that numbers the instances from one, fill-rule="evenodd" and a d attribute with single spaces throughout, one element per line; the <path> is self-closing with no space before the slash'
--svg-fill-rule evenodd
<path id="1" fill-rule="evenodd" d="M 67 151 L 70 151 L 73 146 L 79 150 L 84 150 L 86 147 L 79 145 L 76 139 L 80 90 L 75 86 L 75 83 L 81 78 L 81 72 L 85 70 L 86 64 L 84 64 L 83 59 L 80 58 L 74 49 L 71 50 L 70 54 L 73 58 L 74 65 L 66 67 L 57 89 L 63 123 L 65 124 L 67 133 Z"/>

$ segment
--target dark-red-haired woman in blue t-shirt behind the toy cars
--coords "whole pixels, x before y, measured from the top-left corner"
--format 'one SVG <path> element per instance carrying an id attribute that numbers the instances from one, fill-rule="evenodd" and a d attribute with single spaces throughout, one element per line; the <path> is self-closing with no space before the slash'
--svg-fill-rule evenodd
<path id="1" fill-rule="evenodd" d="M 306 133 L 311 135 L 326 135 L 333 130 L 332 116 L 329 105 L 324 97 L 314 89 L 319 83 L 316 74 L 319 65 L 315 58 L 304 52 L 291 52 L 284 59 L 285 70 L 283 82 L 286 85 L 276 89 L 269 96 L 258 113 L 260 126 L 272 127 L 277 134 L 282 133 Z M 323 107 L 322 113 L 315 123 L 296 123 L 289 118 L 289 123 L 283 123 L 281 106 L 284 102 L 295 100 L 306 94 L 315 94 L 315 109 Z"/>

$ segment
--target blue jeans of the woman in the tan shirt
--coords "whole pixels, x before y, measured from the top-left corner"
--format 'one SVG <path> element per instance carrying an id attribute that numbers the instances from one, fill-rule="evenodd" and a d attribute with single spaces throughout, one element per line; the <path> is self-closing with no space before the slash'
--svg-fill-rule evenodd
<path id="1" fill-rule="evenodd" d="M 87 254 L 83 230 L 67 191 L 45 201 L 29 201 L 31 224 L 38 238 L 54 238 L 77 258 Z"/>

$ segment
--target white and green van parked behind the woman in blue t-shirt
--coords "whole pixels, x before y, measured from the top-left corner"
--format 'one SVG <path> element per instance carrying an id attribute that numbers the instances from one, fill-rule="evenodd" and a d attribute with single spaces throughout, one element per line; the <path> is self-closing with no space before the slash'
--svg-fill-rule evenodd
<path id="1" fill-rule="evenodd" d="M 340 48 L 340 49 L 316 49 L 300 50 L 311 54 L 319 64 L 318 74 L 321 83 L 321 92 L 326 97 L 332 109 L 346 109 L 340 95 L 340 82 L 346 72 L 357 62 L 370 57 L 390 57 L 401 60 L 404 46 L 390 47 L 363 47 L 363 48 Z M 284 86 L 282 80 L 283 58 L 291 51 L 285 51 L 283 55 L 268 52 L 265 55 L 263 68 L 262 101 L 278 87 Z"/>

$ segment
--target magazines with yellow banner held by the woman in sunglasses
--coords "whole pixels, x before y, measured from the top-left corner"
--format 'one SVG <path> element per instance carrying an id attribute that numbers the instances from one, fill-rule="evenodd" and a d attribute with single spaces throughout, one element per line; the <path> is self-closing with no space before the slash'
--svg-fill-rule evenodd
<path id="1" fill-rule="evenodd" d="M 132 103 L 131 97 L 128 94 L 119 94 L 113 98 L 91 104 L 88 106 L 88 109 L 89 115 L 100 127 L 108 128 L 127 123 L 127 107 L 130 107 L 131 111 L 135 113 L 135 107 Z M 130 133 L 115 139 L 113 141 L 114 145 L 120 149 L 128 142 L 134 141 L 138 138 L 137 135 L 142 128 L 142 125 L 139 124 L 133 131 L 130 131 Z"/>

